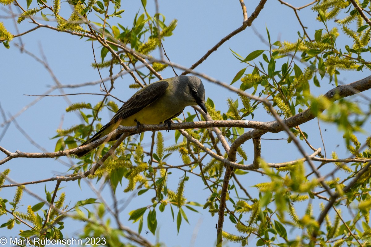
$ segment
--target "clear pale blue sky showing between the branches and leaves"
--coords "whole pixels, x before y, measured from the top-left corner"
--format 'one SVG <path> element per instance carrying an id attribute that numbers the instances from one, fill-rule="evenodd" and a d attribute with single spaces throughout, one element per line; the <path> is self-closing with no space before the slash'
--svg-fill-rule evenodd
<path id="1" fill-rule="evenodd" d="M 259 1 L 246 1 L 247 13 L 252 13 Z M 300 1 L 303 3 L 303 1 Z M 20 4 L 26 5 L 25 1 Z M 52 3 L 48 3 L 52 4 Z M 67 3 L 64 3 L 67 5 Z M 237 29 L 243 20 L 242 10 L 239 1 L 159 1 L 160 13 L 166 17 L 166 23 L 170 23 L 171 20 L 177 19 L 178 26 L 174 31 L 174 35 L 167 37 L 164 41 L 164 47 L 167 55 L 174 63 L 181 64 L 185 67 L 190 67 L 194 62 L 200 59 L 211 47 L 213 47 L 221 38 Z M 293 1 L 293 4 L 297 4 Z M 140 6 L 140 1 L 124 1 L 122 0 L 122 9 L 125 12 L 122 14 L 122 19 L 115 18 L 110 19 L 109 23 L 116 25 L 117 22 L 124 26 L 131 26 L 132 19 L 135 13 L 139 11 L 142 13 L 143 9 Z M 16 7 L 12 6 L 12 10 L 15 11 Z M 14 23 L 11 19 L 5 19 L 7 7 L 2 7 L 0 10 L 0 21 L 4 22 L 7 29 L 13 34 L 16 33 L 14 29 Z M 154 13 L 154 2 L 148 1 L 148 11 Z M 17 13 L 17 11 L 15 11 Z M 322 28 L 318 21 L 314 20 L 316 13 L 313 13 L 310 8 L 299 11 L 302 17 L 302 21 L 305 26 L 308 27 L 308 32 L 313 33 L 314 30 Z M 67 15 L 66 15 L 67 16 Z M 55 25 L 55 23 L 50 23 Z M 333 24 L 335 25 L 335 24 Z M 29 30 L 34 27 L 33 24 L 24 21 L 18 28 L 20 32 Z M 278 1 L 268 1 L 265 8 L 261 11 L 259 17 L 254 21 L 253 27 L 259 31 L 263 37 L 266 36 L 266 28 L 270 32 L 272 43 L 276 40 L 289 40 L 295 41 L 298 38 L 298 31 L 302 31 L 301 27 L 296 20 L 295 14 L 291 9 L 283 6 Z M 59 33 L 50 29 L 38 29 L 29 34 L 26 34 L 22 38 L 22 43 L 25 49 L 31 51 L 36 56 L 40 57 L 41 51 L 47 57 L 50 68 L 58 78 L 61 84 L 81 84 L 89 81 L 99 80 L 99 74 L 96 70 L 91 67 L 93 62 L 91 42 L 86 39 L 79 39 L 77 36 L 72 36 L 66 33 Z M 13 116 L 17 112 L 23 109 L 23 107 L 29 105 L 37 97 L 26 96 L 34 94 L 44 94 L 50 86 L 54 85 L 54 81 L 50 77 L 50 74 L 42 66 L 37 63 L 32 57 L 27 54 L 21 53 L 19 49 L 14 46 L 14 43 L 19 43 L 19 39 L 14 39 L 10 43 L 10 49 L 1 47 L 0 57 L 3 63 L 0 66 L 0 104 L 4 109 L 7 119 Z M 95 43 L 96 56 L 99 57 L 100 46 Z M 257 35 L 254 33 L 251 27 L 248 27 L 242 33 L 237 34 L 231 40 L 223 44 L 216 52 L 204 61 L 200 66 L 196 68 L 196 71 L 205 73 L 213 78 L 220 81 L 230 83 L 236 73 L 243 69 L 244 65 L 241 64 L 232 55 L 230 49 L 236 51 L 241 56 L 247 56 L 254 50 L 265 50 L 269 49 Z M 158 52 L 155 51 L 153 56 L 158 57 Z M 103 71 L 102 76 L 106 77 L 108 73 Z M 174 73 L 171 69 L 167 69 L 161 72 L 162 77 L 172 77 Z M 349 73 L 343 72 L 339 79 L 344 83 L 350 83 L 357 79 L 368 76 L 368 73 Z M 213 99 L 216 109 L 221 111 L 227 110 L 226 99 L 228 97 L 235 97 L 234 94 L 229 91 L 210 83 L 209 81 L 203 80 L 206 88 L 206 97 Z M 135 90 L 127 89 L 128 84 L 132 84 L 133 80 L 130 76 L 125 75 L 122 79 L 118 79 L 115 84 L 115 90 L 112 92 L 113 95 L 121 100 L 128 99 Z M 321 88 L 315 88 L 313 93 L 325 93 L 332 88 L 328 84 L 328 81 L 324 79 L 321 84 Z M 312 87 L 313 88 L 313 87 Z M 95 86 L 88 86 L 78 89 L 65 89 L 66 93 L 100 93 L 99 84 Z M 251 92 L 250 92 L 251 93 Z M 59 91 L 53 91 L 51 94 L 60 94 Z M 71 102 L 87 101 L 95 104 L 101 100 L 101 96 L 94 95 L 78 95 L 69 96 Z M 35 105 L 25 110 L 19 117 L 16 118 L 19 126 L 26 131 L 26 133 L 40 146 L 46 148 L 48 151 L 54 151 L 56 139 L 51 139 L 56 135 L 56 129 L 62 127 L 67 128 L 69 126 L 82 123 L 81 119 L 74 113 L 66 113 L 65 109 L 68 103 L 63 97 L 43 97 Z M 188 108 L 186 110 L 192 110 Z M 258 121 L 269 121 L 272 120 L 270 116 L 264 114 L 264 110 L 260 111 L 261 114 L 256 114 L 254 120 Z M 112 116 L 111 113 L 106 112 L 104 120 L 109 121 Z M 1 119 L 0 124 L 3 122 Z M 328 150 L 335 150 L 337 144 L 343 144 L 341 135 L 338 134 L 335 126 L 326 127 L 326 124 L 322 125 L 322 129 L 330 128 L 326 132 L 322 132 L 326 140 L 326 148 Z M 313 134 L 312 144 L 315 147 L 322 147 L 320 138 L 318 138 L 318 126 L 316 120 L 310 123 L 304 124 L 303 128 L 306 132 Z M 4 130 L 4 127 L 0 128 L 0 133 Z M 165 138 L 168 138 L 166 144 L 172 143 L 171 138 L 174 132 L 163 133 Z M 147 134 L 150 136 L 150 133 Z M 265 138 L 286 138 L 284 133 L 279 134 L 267 134 Z M 150 143 L 148 143 L 150 145 Z M 9 125 L 7 131 L 0 141 L 0 146 L 10 151 L 24 151 L 24 152 L 39 152 L 40 150 L 33 146 L 29 140 L 27 140 L 22 133 L 17 129 L 14 123 Z M 344 145 L 341 145 L 336 151 L 339 153 L 345 153 Z M 293 144 L 287 144 L 285 140 L 280 141 L 262 141 L 262 155 L 267 162 L 283 162 L 300 158 L 300 155 L 296 152 L 296 148 Z M 243 148 L 247 150 L 249 161 L 253 157 L 252 144 L 246 143 Z M 310 153 L 310 150 L 307 150 Z M 290 154 L 290 155 L 288 155 Z M 329 154 L 328 154 L 329 155 Z M 173 159 L 168 160 L 168 163 L 177 162 L 176 154 L 173 155 Z M 0 159 L 4 155 L 0 154 Z M 61 158 L 69 163 L 76 162 L 76 160 L 68 160 L 67 158 Z M 17 182 L 24 181 L 36 181 L 54 176 L 55 174 L 64 174 L 68 168 L 63 164 L 60 164 L 56 160 L 52 159 L 24 159 L 16 158 L 0 167 L 0 171 L 4 168 L 9 167 L 12 171 L 10 177 Z M 177 173 L 177 172 L 174 172 Z M 179 173 L 179 177 L 183 174 Z M 173 186 L 173 190 L 176 189 L 178 180 L 175 179 L 177 176 L 173 175 L 173 180 L 169 181 L 168 186 Z M 243 184 L 249 188 L 259 182 L 260 176 L 256 176 L 256 173 L 251 172 L 246 175 L 246 178 L 241 178 Z M 62 183 L 63 187 L 60 191 L 66 191 L 67 198 L 66 203 L 74 205 L 76 198 L 88 198 L 96 197 L 96 195 L 89 188 L 89 182 L 95 185 L 95 181 L 82 182 L 81 188 L 78 187 L 77 182 Z M 99 188 L 99 181 L 96 185 Z M 126 187 L 126 182 L 123 182 L 123 188 L 118 188 L 118 198 L 127 199 L 130 197 L 129 194 L 122 193 L 122 190 Z M 45 184 L 37 184 L 27 186 L 30 190 L 35 193 L 39 193 L 40 196 L 45 197 L 43 194 Z M 52 191 L 55 187 L 55 182 L 46 183 L 46 188 Z M 3 189 L 1 197 L 12 199 L 15 189 Z M 252 194 L 256 193 L 256 190 L 252 190 Z M 102 191 L 109 193 L 106 188 Z M 190 201 L 197 201 L 204 203 L 205 199 L 209 196 L 209 191 L 204 190 L 204 185 L 201 181 L 188 183 L 186 185 L 185 197 Z M 143 195 L 141 197 L 135 197 L 131 203 L 121 214 L 122 221 L 126 222 L 128 219 L 128 212 L 144 207 L 150 204 L 151 196 Z M 31 203 L 29 202 L 31 201 Z M 23 203 L 34 202 L 37 200 L 32 196 L 24 194 Z M 33 205 L 32 204 L 32 205 Z M 173 222 L 170 216 L 170 210 L 167 208 L 164 213 L 158 212 L 159 220 L 159 239 L 164 242 L 166 246 L 213 246 L 216 239 L 215 223 L 217 222 L 217 216 L 211 217 L 207 210 L 202 210 L 201 214 L 197 214 L 186 210 L 190 225 L 183 221 L 181 225 L 180 234 L 177 235 L 176 223 Z M 5 218 L 4 216 L 1 217 Z M 3 222 L 3 220 L 2 220 Z M 133 230 L 137 230 L 137 225 L 132 225 L 131 222 L 125 224 L 128 227 L 133 227 Z M 75 234 L 81 233 L 81 226 L 76 225 L 72 220 L 66 221 L 68 230 L 66 236 L 76 236 Z M 146 230 L 146 229 L 144 229 Z M 232 231 L 235 233 L 234 226 L 226 218 L 226 224 L 224 230 Z M 143 231 L 142 234 L 145 232 Z M 194 237 L 196 234 L 196 238 Z M 12 231 L 1 229 L 0 235 L 16 236 L 18 234 L 15 228 Z M 144 237 L 148 238 L 152 243 L 155 242 L 156 236 L 152 236 L 151 233 L 144 234 Z M 191 240 L 195 238 L 194 245 L 191 245 Z M 295 236 L 293 237 L 295 238 Z M 253 240 L 252 240 L 253 241 Z M 238 246 L 232 243 L 229 246 Z"/>

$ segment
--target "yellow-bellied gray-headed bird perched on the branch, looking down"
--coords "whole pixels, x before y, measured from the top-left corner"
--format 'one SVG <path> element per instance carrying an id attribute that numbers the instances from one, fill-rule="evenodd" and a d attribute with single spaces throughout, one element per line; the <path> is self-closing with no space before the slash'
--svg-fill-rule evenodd
<path id="1" fill-rule="evenodd" d="M 186 106 L 200 106 L 207 113 L 205 106 L 205 89 L 202 81 L 196 76 L 176 76 L 150 83 L 138 90 L 89 140 L 85 146 L 115 130 L 119 125 L 139 126 L 140 124 L 169 123 L 179 116 Z M 122 134 L 110 137 L 108 141 L 117 140 Z M 97 146 L 83 150 L 76 155 L 80 158 L 90 153 Z"/>

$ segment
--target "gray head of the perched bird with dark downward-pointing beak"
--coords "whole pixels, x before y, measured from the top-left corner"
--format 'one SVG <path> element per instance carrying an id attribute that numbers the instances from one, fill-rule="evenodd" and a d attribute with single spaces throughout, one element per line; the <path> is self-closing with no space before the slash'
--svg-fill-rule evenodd
<path id="1" fill-rule="evenodd" d="M 205 106 L 205 89 L 202 81 L 196 76 L 178 76 L 180 87 L 184 93 L 188 105 L 198 105 L 207 113 Z"/>

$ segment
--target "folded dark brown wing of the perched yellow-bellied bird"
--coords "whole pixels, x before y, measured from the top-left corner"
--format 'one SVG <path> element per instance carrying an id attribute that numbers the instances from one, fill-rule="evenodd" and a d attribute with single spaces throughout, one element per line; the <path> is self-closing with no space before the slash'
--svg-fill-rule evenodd
<path id="1" fill-rule="evenodd" d="M 165 93 L 168 86 L 169 83 L 167 81 L 158 81 L 149 84 L 144 90 L 138 91 L 116 112 L 115 116 L 110 121 L 110 124 L 125 119 L 142 110 L 144 107 L 149 106 Z"/>

